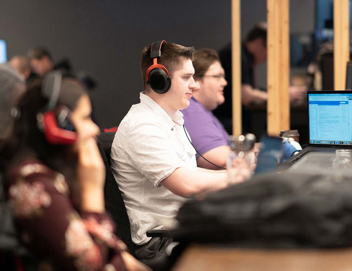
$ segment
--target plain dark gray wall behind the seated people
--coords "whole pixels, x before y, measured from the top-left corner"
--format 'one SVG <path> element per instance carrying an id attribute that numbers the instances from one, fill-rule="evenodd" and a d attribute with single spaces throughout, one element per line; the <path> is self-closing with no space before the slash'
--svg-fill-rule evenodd
<path id="1" fill-rule="evenodd" d="M 265 3 L 241 1 L 245 31 L 265 20 Z M 231 1 L 0 0 L 0 38 L 7 41 L 9 58 L 43 45 L 54 61 L 67 57 L 76 72 L 92 73 L 98 80 L 92 93 L 98 123 L 111 127 L 139 102 L 143 47 L 165 39 L 219 50 L 231 38 Z"/>

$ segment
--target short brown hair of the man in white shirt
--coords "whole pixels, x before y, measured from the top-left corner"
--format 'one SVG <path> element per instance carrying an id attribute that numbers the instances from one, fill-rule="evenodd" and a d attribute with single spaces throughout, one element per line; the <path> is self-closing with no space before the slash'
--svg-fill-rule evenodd
<path id="1" fill-rule="evenodd" d="M 142 78 L 144 88 L 146 88 L 146 72 L 147 69 L 153 65 L 153 59 L 150 58 L 150 47 L 145 47 L 140 57 L 140 71 L 142 72 Z M 161 46 L 161 57 L 158 59 L 158 64 L 163 65 L 168 71 L 170 76 L 180 68 L 183 60 L 193 60 L 194 47 L 185 47 L 175 43 L 163 43 Z"/>

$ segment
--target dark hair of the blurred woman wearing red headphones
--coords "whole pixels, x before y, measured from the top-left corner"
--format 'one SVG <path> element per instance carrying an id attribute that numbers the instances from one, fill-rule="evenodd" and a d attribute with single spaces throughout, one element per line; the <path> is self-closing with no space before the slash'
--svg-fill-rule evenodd
<path id="1" fill-rule="evenodd" d="M 84 93 L 84 89 L 77 82 L 64 79 L 56 105 L 65 105 L 73 111 Z M 73 164 L 77 157 L 71 151 L 71 146 L 49 144 L 45 140 L 44 133 L 38 129 L 37 114 L 43 112 L 47 103 L 48 98 L 42 94 L 41 80 L 34 81 L 19 103 L 21 116 L 15 122 L 11 147 L 5 150 L 10 151 L 8 155 L 12 156 L 9 157 L 11 164 L 17 164 L 31 155 L 33 159 L 40 160 L 46 166 L 73 180 L 75 176 Z"/>

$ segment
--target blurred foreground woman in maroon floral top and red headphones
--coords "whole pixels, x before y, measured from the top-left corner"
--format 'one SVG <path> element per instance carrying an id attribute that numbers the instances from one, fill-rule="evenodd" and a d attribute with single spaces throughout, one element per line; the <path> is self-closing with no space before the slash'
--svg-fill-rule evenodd
<path id="1" fill-rule="evenodd" d="M 83 87 L 50 73 L 11 111 L 1 169 L 21 240 L 36 258 L 31 268 L 149 270 L 125 251 L 105 214 L 99 128 Z"/>

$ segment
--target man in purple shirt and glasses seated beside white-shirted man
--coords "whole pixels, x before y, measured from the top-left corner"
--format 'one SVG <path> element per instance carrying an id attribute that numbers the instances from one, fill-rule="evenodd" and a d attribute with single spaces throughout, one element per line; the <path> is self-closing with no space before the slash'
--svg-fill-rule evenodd
<path id="1" fill-rule="evenodd" d="M 218 53 L 212 49 L 196 50 L 193 66 L 197 89 L 193 90 L 189 107 L 181 110 L 184 125 L 200 154 L 210 162 L 226 167 L 230 151 L 228 134 L 212 113 L 212 110 L 225 101 L 225 71 Z M 220 169 L 204 160 L 198 153 L 196 160 L 198 167 Z"/>

